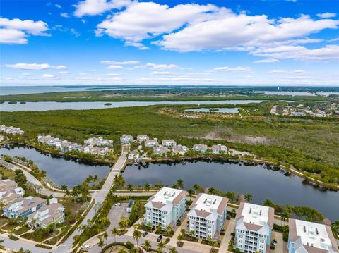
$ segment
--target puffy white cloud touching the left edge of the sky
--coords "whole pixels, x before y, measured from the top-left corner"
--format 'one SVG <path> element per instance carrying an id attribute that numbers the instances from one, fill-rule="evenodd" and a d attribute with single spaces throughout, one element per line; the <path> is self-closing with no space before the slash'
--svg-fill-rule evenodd
<path id="1" fill-rule="evenodd" d="M 29 35 L 49 36 L 47 23 L 33 20 L 0 18 L 0 43 L 27 44 Z"/>

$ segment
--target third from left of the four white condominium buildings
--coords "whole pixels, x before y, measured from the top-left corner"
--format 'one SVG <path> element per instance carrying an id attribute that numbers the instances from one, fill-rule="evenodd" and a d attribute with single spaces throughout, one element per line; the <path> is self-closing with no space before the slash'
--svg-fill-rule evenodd
<path id="1" fill-rule="evenodd" d="M 269 250 L 274 221 L 272 207 L 242 202 L 235 220 L 235 247 L 248 253 Z"/>

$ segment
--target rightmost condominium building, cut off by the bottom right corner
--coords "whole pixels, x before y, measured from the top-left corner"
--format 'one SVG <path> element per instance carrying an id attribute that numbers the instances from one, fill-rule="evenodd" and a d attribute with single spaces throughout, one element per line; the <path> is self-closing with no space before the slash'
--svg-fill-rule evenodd
<path id="1" fill-rule="evenodd" d="M 339 252 L 330 226 L 290 218 L 289 253 Z"/>

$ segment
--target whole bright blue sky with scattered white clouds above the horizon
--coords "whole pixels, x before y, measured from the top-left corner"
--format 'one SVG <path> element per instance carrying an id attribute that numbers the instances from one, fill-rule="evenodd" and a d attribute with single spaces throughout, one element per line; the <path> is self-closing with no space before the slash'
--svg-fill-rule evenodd
<path id="1" fill-rule="evenodd" d="M 338 86 L 338 10 L 335 0 L 4 0 L 0 81 Z"/>

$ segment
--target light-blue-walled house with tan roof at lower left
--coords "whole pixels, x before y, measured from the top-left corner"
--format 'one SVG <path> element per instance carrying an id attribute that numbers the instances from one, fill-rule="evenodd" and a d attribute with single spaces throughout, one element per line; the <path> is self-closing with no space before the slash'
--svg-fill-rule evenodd
<path id="1" fill-rule="evenodd" d="M 47 204 L 46 199 L 30 196 L 7 204 L 3 207 L 2 211 L 4 211 L 4 216 L 7 218 L 17 218 L 18 216 L 25 218 L 29 214 L 39 210 L 40 207 L 45 204 Z"/>

